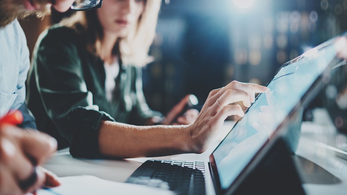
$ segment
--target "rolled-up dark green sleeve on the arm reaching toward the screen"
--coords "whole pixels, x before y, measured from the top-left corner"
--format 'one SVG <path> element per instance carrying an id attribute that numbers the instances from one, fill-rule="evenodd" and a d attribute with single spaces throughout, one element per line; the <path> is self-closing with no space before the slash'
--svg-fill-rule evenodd
<path id="1" fill-rule="evenodd" d="M 100 122 L 114 119 L 93 104 L 93 94 L 84 80 L 77 36 L 65 27 L 43 33 L 34 51 L 33 71 L 44 110 L 70 142 L 71 155 L 98 158 Z"/>

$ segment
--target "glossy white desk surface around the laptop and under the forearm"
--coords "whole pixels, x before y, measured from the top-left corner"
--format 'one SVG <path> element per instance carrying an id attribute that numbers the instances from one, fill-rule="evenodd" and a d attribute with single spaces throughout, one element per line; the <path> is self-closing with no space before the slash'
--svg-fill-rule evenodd
<path id="1" fill-rule="evenodd" d="M 301 161 L 299 172 L 307 178 L 303 187 L 309 195 L 345 195 L 347 194 L 347 160 L 338 157 L 336 153 L 339 152 L 334 149 L 336 142 L 347 143 L 347 136 L 339 135 L 336 132 L 324 110 L 315 110 L 315 115 L 316 118 L 319 118 L 317 120 L 319 122 L 303 122 L 296 152 L 297 156 L 303 157 L 299 160 Z M 124 182 L 147 159 L 208 161 L 213 149 L 222 141 L 233 125 L 233 121 L 226 121 L 215 141 L 203 154 L 179 154 L 124 160 L 89 160 L 72 158 L 68 150 L 64 149 L 58 151 L 44 167 L 59 177 L 93 175 L 106 180 Z"/>

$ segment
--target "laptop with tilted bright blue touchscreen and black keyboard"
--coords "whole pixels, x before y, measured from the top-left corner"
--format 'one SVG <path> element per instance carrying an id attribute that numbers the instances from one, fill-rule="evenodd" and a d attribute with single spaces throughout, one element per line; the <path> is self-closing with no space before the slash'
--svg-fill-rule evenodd
<path id="1" fill-rule="evenodd" d="M 279 140 L 284 140 L 289 152 L 295 151 L 300 122 L 293 125 L 293 121 L 301 120 L 303 108 L 327 83 L 331 68 L 342 61 L 337 57 L 341 46 L 345 43 L 335 37 L 284 63 L 266 85 L 270 90 L 257 96 L 214 149 L 209 162 L 149 160 L 126 182 L 166 188 L 177 194 L 235 194 L 269 151 L 276 149 Z M 266 177 L 265 172 L 258 179 Z M 283 177 L 286 175 L 279 179 Z"/>

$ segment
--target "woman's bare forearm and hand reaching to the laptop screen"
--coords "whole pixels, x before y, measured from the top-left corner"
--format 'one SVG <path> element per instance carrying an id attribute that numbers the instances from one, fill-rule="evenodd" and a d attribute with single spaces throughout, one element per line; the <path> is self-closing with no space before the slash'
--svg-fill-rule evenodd
<path id="1" fill-rule="evenodd" d="M 98 126 L 99 150 L 102 155 L 118 158 L 202 153 L 228 116 L 244 116 L 242 108 L 231 103 L 243 101 L 245 106 L 250 106 L 255 93 L 267 90 L 264 86 L 237 81 L 213 90 L 190 125 L 134 126 L 102 120 Z"/>

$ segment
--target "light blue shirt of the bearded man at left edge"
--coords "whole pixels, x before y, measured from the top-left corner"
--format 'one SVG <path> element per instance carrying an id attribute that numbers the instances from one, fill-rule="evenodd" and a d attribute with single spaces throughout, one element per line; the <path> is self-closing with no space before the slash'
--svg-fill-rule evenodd
<path id="1" fill-rule="evenodd" d="M 25 102 L 30 67 L 26 37 L 18 20 L 0 28 L 0 117 Z"/>

